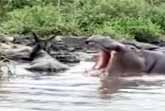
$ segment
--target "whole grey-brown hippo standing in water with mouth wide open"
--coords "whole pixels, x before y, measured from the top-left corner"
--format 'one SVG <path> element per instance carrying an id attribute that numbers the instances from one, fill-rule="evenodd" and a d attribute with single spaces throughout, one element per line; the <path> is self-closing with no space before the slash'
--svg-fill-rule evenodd
<path id="1" fill-rule="evenodd" d="M 165 54 L 161 51 L 137 49 L 110 37 L 89 37 L 86 44 L 99 49 L 94 70 L 108 76 L 164 74 Z"/>

